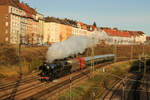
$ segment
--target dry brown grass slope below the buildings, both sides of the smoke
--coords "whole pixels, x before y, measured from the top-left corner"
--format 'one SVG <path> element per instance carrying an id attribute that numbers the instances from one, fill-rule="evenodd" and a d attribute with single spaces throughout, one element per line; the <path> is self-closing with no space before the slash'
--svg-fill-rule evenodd
<path id="1" fill-rule="evenodd" d="M 48 47 L 21 47 L 21 57 L 17 56 L 16 45 L 0 44 L 0 76 L 17 75 L 18 66 L 24 68 L 23 73 L 29 73 L 38 69 L 38 66 L 45 61 Z M 94 48 L 94 55 L 112 54 L 115 46 L 98 46 Z M 144 52 L 150 55 L 150 46 L 144 46 Z M 137 58 L 142 54 L 143 46 L 133 46 L 133 57 Z M 91 50 L 86 50 L 83 56 L 90 56 Z M 117 46 L 117 57 L 131 57 L 131 46 Z M 10 74 L 8 74 L 10 73 Z"/>

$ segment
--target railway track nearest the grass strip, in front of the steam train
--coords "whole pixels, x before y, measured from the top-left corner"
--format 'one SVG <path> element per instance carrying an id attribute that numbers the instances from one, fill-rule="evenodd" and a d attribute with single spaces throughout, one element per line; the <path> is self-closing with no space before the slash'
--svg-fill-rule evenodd
<path id="1" fill-rule="evenodd" d="M 99 65 L 96 65 L 97 66 L 96 69 L 100 68 L 102 66 L 111 64 L 111 63 L 113 63 L 113 62 L 107 62 L 107 63 L 102 63 L 102 64 L 99 64 Z M 77 72 L 75 72 L 75 73 L 77 73 Z M 75 73 L 73 73 L 73 74 L 75 74 Z M 22 88 L 18 89 L 17 92 L 15 93 L 14 99 L 16 98 L 15 100 L 21 100 L 21 99 L 30 100 L 32 98 L 39 98 L 39 97 L 45 95 L 46 93 L 51 93 L 54 90 L 59 89 L 60 87 L 69 84 L 70 81 L 73 82 L 73 81 L 87 75 L 88 73 L 90 73 L 90 70 L 85 69 L 85 71 L 80 71 L 78 74 L 72 75 L 71 80 L 69 79 L 69 76 L 68 76 L 68 79 L 65 79 L 64 81 L 62 81 L 60 83 L 57 83 L 57 84 L 54 83 L 55 85 L 51 82 L 50 83 L 39 83 L 39 85 L 38 85 L 38 83 L 29 84 L 27 87 L 22 87 Z M 24 83 L 22 83 L 22 84 L 24 84 Z M 44 84 L 45 85 L 46 84 L 51 84 L 51 85 L 49 87 L 43 88 Z M 8 87 L 4 86 L 3 89 L 4 90 L 8 90 L 10 88 L 13 89 L 14 85 L 15 84 L 10 84 L 10 85 L 8 85 Z M 35 90 L 35 93 L 32 93 L 32 95 L 31 95 L 30 91 L 33 91 L 33 90 Z M 12 93 L 11 91 L 9 91 L 9 92 L 4 92 L 3 91 L 3 95 L 0 95 L 0 98 L 2 100 L 9 100 L 9 98 L 11 98 L 11 93 Z M 27 96 L 27 93 L 30 94 L 30 95 Z M 26 96 L 25 96 L 25 94 L 26 94 Z M 25 98 L 23 96 L 25 96 Z"/>

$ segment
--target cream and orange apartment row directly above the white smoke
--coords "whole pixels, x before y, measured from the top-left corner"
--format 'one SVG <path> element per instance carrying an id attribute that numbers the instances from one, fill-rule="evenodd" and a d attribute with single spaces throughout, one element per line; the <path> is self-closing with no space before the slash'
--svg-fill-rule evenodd
<path id="1" fill-rule="evenodd" d="M 88 31 L 86 25 L 80 22 L 78 27 L 73 27 L 69 25 L 64 25 L 56 22 L 46 21 L 44 23 L 44 43 L 56 43 L 60 41 L 64 41 L 71 37 L 72 35 L 87 35 L 98 34 L 98 30 L 96 28 L 92 28 L 91 31 Z M 81 25 L 81 26 L 79 26 Z M 91 26 L 92 27 L 92 26 Z"/>

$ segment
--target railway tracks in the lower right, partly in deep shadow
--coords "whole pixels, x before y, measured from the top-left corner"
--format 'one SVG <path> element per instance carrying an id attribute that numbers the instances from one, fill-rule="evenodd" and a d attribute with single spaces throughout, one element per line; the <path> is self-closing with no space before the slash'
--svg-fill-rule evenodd
<path id="1" fill-rule="evenodd" d="M 133 75 L 125 82 L 125 86 L 121 84 L 122 80 L 116 80 L 110 88 L 108 88 L 100 100 L 150 100 L 150 80 L 149 70 L 144 74 L 134 72 Z"/>

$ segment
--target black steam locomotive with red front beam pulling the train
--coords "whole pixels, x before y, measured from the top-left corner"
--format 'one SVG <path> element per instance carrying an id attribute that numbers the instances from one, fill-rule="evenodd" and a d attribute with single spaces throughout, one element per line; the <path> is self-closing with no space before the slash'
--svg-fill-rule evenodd
<path id="1" fill-rule="evenodd" d="M 71 64 L 67 61 L 54 61 L 52 63 L 44 62 L 39 67 L 41 81 L 52 81 L 71 72 Z"/>

